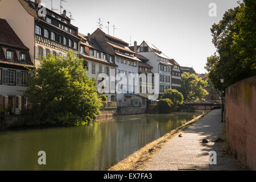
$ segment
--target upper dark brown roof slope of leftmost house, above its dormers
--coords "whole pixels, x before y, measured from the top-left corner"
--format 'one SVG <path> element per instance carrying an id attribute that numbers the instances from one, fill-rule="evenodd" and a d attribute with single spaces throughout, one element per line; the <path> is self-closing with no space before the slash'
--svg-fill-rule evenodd
<path id="1" fill-rule="evenodd" d="M 13 28 L 6 22 L 5 19 L 0 18 L 0 44 L 3 46 L 10 46 L 17 49 L 28 51 L 29 49 L 22 43 L 18 35 L 13 31 Z"/>

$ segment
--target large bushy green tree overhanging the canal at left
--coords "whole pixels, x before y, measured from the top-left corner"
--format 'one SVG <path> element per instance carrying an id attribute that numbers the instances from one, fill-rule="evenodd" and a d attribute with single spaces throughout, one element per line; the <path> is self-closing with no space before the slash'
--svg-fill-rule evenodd
<path id="1" fill-rule="evenodd" d="M 28 78 L 28 98 L 36 113 L 33 124 L 81 125 L 100 114 L 95 81 L 86 76 L 83 60 L 68 52 L 66 57 L 50 55 Z"/>

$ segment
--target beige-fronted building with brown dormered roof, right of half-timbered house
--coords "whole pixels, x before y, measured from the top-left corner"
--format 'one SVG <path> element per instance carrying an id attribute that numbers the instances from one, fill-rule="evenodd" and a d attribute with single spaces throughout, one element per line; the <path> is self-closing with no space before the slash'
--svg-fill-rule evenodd
<path id="1" fill-rule="evenodd" d="M 105 73 L 109 79 L 106 80 L 106 84 L 102 85 L 104 90 L 107 91 L 104 94 L 108 97 L 109 101 L 115 102 L 115 79 L 110 80 L 110 76 L 115 78 L 115 68 L 117 67 L 117 65 L 114 64 L 114 55 L 109 55 L 105 52 L 98 44 L 97 40 L 92 38 L 92 36 L 86 36 L 80 33 L 79 36 L 82 39 L 80 42 L 80 57 L 84 59 L 87 75 L 90 78 L 96 79 L 98 85 L 102 82 L 102 78 L 98 80 L 98 75 L 100 73 Z"/>

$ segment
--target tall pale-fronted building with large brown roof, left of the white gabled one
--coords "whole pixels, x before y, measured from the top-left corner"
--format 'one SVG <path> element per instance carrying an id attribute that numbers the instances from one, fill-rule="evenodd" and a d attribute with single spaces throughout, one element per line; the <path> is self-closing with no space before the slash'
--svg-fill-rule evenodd
<path id="1" fill-rule="evenodd" d="M 105 34 L 100 28 L 90 35 L 90 38 L 97 40 L 102 50 L 109 55 L 114 56 L 114 63 L 118 66 L 116 75 L 121 76 L 116 81 L 117 105 L 118 107 L 139 107 L 146 111 L 146 104 L 143 105 L 142 97 L 139 96 L 138 63 L 141 62 L 135 55 L 134 51 L 129 49 L 129 44 L 121 39 Z M 134 76 L 133 78 L 129 78 Z M 123 80 L 123 78 L 127 80 Z"/>

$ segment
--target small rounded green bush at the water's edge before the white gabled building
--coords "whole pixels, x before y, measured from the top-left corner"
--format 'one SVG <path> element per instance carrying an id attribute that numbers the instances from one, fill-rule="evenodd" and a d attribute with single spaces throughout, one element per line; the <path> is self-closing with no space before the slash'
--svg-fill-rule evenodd
<path id="1" fill-rule="evenodd" d="M 183 104 L 184 100 L 183 94 L 176 89 L 165 90 L 161 98 L 169 98 L 173 102 L 174 108 L 176 108 L 178 104 Z"/>

